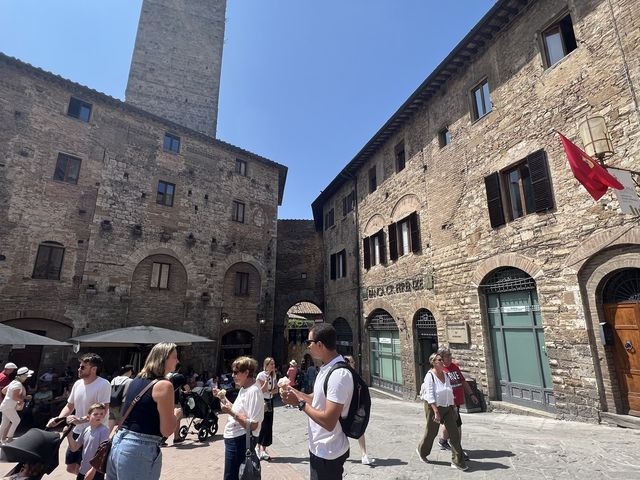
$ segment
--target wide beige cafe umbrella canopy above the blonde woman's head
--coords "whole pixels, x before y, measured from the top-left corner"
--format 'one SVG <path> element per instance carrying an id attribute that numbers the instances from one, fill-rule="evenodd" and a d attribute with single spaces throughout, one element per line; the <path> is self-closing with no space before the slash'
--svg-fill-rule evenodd
<path id="1" fill-rule="evenodd" d="M 83 347 L 128 347 L 131 345 L 149 345 L 160 342 L 171 342 L 176 345 L 191 345 L 192 343 L 215 342 L 210 338 L 192 333 L 154 327 L 152 325 L 138 325 L 134 327 L 116 328 L 104 332 L 89 333 L 69 339 L 70 342 Z"/>

